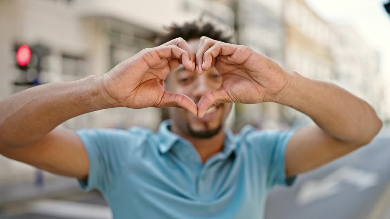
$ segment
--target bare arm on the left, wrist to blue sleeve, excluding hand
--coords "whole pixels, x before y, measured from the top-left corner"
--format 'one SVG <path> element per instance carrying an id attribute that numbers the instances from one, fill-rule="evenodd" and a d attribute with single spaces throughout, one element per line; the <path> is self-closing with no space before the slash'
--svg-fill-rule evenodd
<path id="1" fill-rule="evenodd" d="M 29 88 L 0 103 L 0 153 L 53 173 L 84 178 L 88 157 L 69 118 L 115 105 L 103 101 L 101 76 Z M 53 130 L 54 129 L 54 130 Z"/>

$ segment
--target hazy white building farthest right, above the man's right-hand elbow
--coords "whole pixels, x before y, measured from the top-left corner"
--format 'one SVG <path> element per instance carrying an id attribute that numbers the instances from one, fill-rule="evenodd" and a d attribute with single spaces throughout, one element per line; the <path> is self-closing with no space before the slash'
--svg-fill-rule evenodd
<path id="1" fill-rule="evenodd" d="M 338 38 L 332 51 L 336 64 L 336 83 L 381 112 L 385 89 L 379 72 L 378 52 L 353 27 L 337 25 L 335 30 Z"/>

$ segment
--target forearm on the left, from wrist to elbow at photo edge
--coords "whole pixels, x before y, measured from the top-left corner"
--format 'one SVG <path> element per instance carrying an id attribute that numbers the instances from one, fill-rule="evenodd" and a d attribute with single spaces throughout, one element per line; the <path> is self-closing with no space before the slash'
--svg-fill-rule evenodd
<path id="1" fill-rule="evenodd" d="M 1 101 L 0 146 L 32 144 L 69 118 L 113 107 L 99 77 L 40 85 Z"/>

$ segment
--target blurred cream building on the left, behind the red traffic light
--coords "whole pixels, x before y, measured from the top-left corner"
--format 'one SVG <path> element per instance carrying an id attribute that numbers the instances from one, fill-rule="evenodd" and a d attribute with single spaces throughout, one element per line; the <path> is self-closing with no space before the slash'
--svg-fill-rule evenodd
<path id="1" fill-rule="evenodd" d="M 213 7 L 209 7 L 209 5 Z M 207 6 L 207 7 L 206 7 Z M 0 99 L 25 89 L 15 85 L 15 45 L 41 44 L 49 49 L 43 58 L 41 83 L 69 81 L 101 75 L 143 48 L 172 22 L 200 16 L 232 25 L 234 13 L 218 2 L 186 0 L 35 0 L 0 1 Z M 69 128 L 127 128 L 140 125 L 156 129 L 157 108 L 113 108 L 66 121 Z M 34 181 L 35 168 L 0 156 L 0 185 Z"/>

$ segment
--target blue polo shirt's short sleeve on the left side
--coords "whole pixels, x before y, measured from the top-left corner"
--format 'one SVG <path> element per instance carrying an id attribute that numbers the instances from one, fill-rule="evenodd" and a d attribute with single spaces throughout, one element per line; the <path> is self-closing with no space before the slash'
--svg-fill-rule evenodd
<path id="1" fill-rule="evenodd" d="M 84 191 L 105 191 L 113 175 L 121 165 L 121 156 L 133 142 L 132 135 L 122 129 L 79 129 L 76 134 L 82 140 L 89 159 L 87 180 L 78 180 Z"/>

